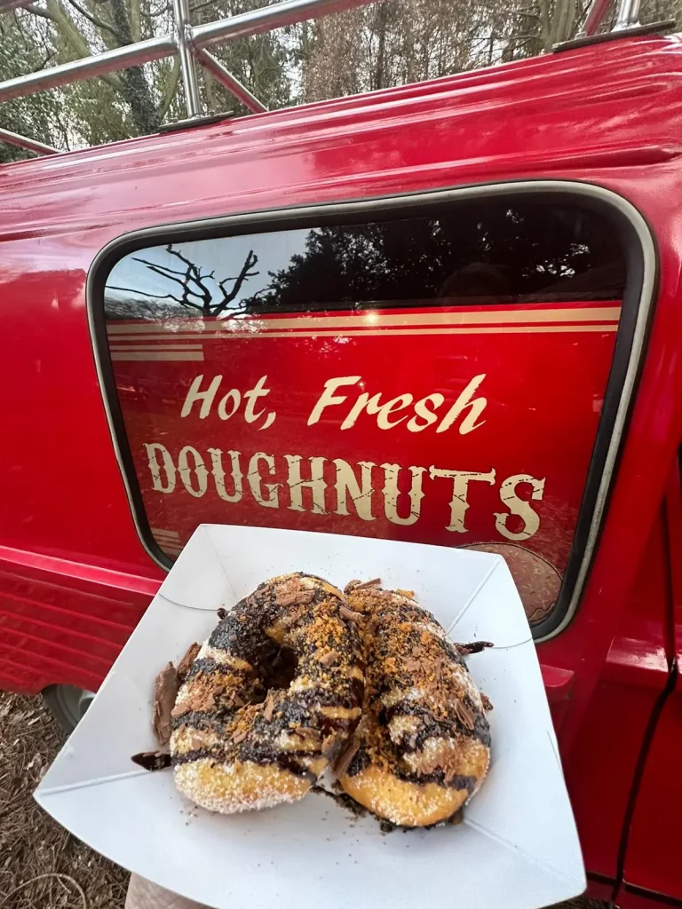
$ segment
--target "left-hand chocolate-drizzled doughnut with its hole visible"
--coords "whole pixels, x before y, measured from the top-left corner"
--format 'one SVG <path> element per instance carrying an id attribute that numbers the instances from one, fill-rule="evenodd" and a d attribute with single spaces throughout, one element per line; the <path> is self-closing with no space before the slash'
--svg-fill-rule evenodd
<path id="1" fill-rule="evenodd" d="M 294 802 L 355 732 L 365 688 L 356 624 L 341 591 L 300 572 L 218 614 L 173 708 L 176 787 L 222 814 Z"/>

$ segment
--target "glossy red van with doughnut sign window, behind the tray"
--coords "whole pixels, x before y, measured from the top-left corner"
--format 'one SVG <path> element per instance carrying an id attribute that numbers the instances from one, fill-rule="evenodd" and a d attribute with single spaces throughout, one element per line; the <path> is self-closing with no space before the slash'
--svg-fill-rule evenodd
<path id="1" fill-rule="evenodd" d="M 0 686 L 74 724 L 202 522 L 501 553 L 590 893 L 682 905 L 682 45 L 577 44 L 0 169 Z"/>

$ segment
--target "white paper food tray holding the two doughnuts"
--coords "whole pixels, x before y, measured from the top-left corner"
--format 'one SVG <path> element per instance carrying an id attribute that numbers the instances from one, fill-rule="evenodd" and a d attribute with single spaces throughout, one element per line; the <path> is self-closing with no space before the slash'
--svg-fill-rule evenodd
<path id="1" fill-rule="evenodd" d="M 343 587 L 381 577 L 416 593 L 453 639 L 495 647 L 468 658 L 494 704 L 490 771 L 464 823 L 383 834 L 323 794 L 232 816 L 176 792 L 154 750 L 155 674 L 275 574 Z M 256 527 L 199 527 L 162 584 L 35 798 L 125 868 L 216 909 L 534 909 L 583 892 L 585 870 L 535 645 L 498 555 Z"/>

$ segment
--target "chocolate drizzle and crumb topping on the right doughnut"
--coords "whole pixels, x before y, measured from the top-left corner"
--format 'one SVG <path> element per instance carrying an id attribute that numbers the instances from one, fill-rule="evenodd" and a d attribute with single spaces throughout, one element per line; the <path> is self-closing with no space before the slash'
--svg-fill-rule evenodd
<path id="1" fill-rule="evenodd" d="M 464 657 L 482 648 L 453 644 L 433 615 L 399 592 L 355 585 L 348 600 L 366 616 L 367 687 L 359 747 L 342 782 L 373 766 L 470 797 L 486 773 L 490 729 Z"/>

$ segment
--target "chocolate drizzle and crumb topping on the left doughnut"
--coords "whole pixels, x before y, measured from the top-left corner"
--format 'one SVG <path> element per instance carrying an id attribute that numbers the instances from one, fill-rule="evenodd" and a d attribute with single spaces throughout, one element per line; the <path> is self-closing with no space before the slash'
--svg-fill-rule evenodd
<path id="1" fill-rule="evenodd" d="M 355 677 L 359 635 L 342 613 L 343 598 L 307 578 L 261 584 L 221 618 L 207 644 L 236 660 L 202 656 L 192 665 L 176 704 L 174 766 L 208 758 L 309 776 L 311 758 L 336 754 L 353 734 L 365 689 Z M 320 659 L 327 653 L 333 666 Z M 184 703 L 191 709 L 180 713 Z M 191 730 L 206 738 L 193 743 Z M 195 746 L 203 741 L 206 747 Z"/>

